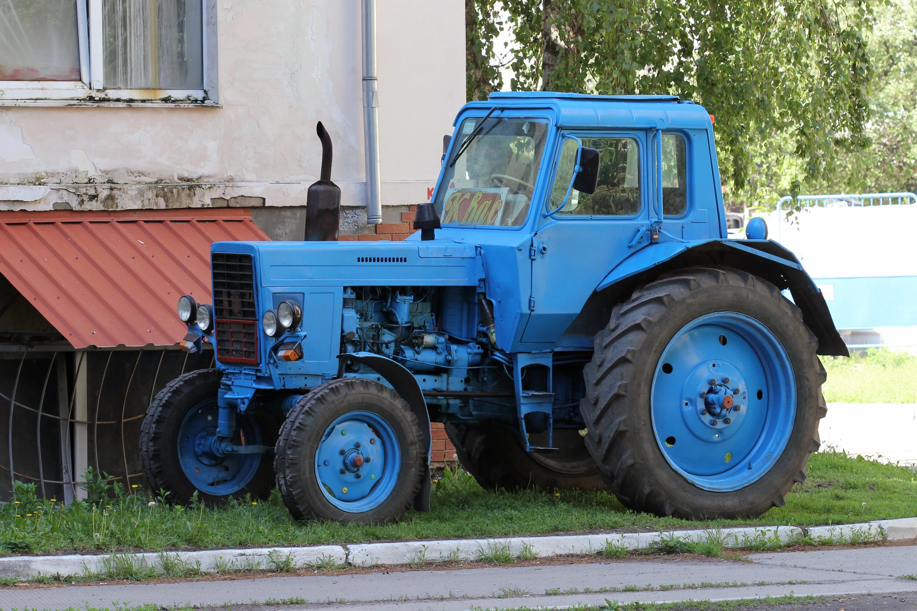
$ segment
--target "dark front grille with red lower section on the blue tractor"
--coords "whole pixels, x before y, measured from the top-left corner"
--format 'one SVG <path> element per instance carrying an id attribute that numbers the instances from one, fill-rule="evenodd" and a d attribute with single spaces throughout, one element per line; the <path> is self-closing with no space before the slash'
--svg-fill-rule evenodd
<path id="1" fill-rule="evenodd" d="M 216 357 L 227 363 L 258 364 L 258 314 L 251 255 L 214 253 Z"/>

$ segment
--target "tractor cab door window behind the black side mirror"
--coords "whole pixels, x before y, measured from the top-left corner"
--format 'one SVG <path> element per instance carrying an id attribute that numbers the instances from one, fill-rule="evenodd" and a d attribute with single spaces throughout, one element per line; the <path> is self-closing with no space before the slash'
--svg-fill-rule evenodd
<path id="1" fill-rule="evenodd" d="M 597 148 L 601 154 L 599 185 L 591 194 L 571 190 L 567 205 L 558 214 L 622 216 L 639 212 L 640 155 L 636 140 L 622 137 L 582 138 L 582 146 Z M 548 210 L 554 210 L 563 202 L 576 161 L 576 150 L 576 142 L 565 140 Z"/>

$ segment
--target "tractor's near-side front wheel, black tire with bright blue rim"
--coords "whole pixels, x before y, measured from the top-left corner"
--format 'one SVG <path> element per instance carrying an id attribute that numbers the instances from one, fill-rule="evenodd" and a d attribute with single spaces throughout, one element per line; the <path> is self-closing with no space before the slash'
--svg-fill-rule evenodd
<path id="1" fill-rule="evenodd" d="M 423 440 L 392 388 L 353 377 L 326 382 L 283 423 L 274 458 L 283 503 L 296 519 L 396 521 L 420 490 Z"/>

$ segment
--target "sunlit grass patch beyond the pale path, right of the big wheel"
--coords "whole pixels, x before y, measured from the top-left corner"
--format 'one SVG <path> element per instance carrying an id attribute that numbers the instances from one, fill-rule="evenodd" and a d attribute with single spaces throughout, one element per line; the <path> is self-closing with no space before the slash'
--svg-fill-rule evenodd
<path id="1" fill-rule="evenodd" d="M 917 356 L 870 348 L 850 358 L 823 356 L 822 363 L 829 403 L 917 403 Z"/>

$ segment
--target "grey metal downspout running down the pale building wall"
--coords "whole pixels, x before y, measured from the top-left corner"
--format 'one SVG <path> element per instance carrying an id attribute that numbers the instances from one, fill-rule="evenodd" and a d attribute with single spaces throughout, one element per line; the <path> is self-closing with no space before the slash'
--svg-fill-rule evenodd
<path id="1" fill-rule="evenodd" d="M 378 109 L 376 0 L 363 0 L 363 132 L 366 146 L 366 222 L 368 224 L 382 222 Z"/>

